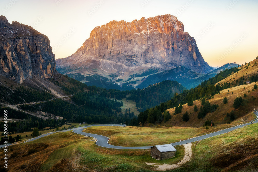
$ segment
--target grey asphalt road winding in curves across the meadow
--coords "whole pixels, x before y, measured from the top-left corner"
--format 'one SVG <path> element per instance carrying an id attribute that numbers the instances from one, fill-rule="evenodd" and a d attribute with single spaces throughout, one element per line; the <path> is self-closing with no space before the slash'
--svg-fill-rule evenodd
<path id="1" fill-rule="evenodd" d="M 258 110 L 254 111 L 254 113 L 255 113 L 257 118 L 255 120 L 253 120 L 252 122 L 253 122 L 253 124 L 256 124 L 256 123 L 258 123 Z M 242 125 L 238 125 L 238 126 L 231 127 L 231 128 L 227 128 L 227 129 L 220 130 L 220 131 L 217 131 L 217 132 L 214 132 L 214 133 L 210 133 L 210 134 L 206 134 L 206 135 L 203 135 L 203 136 L 198 136 L 198 137 L 191 138 L 191 139 L 188 139 L 188 140 L 171 143 L 171 144 L 173 146 L 176 146 L 176 145 L 182 145 L 182 144 L 196 142 L 198 140 L 200 141 L 200 140 L 203 140 L 205 138 L 210 138 L 210 137 L 213 137 L 213 136 L 225 134 L 225 133 L 231 132 L 231 131 L 233 131 L 235 129 L 242 128 L 242 127 L 247 126 L 247 125 L 251 125 L 252 122 L 249 122 L 249 123 L 246 123 L 246 124 L 242 124 Z M 74 132 L 76 134 L 80 134 L 80 135 L 96 138 L 97 139 L 96 145 L 104 147 L 104 148 L 111 148 L 111 149 L 149 149 L 149 148 L 152 147 L 152 146 L 125 147 L 125 146 L 110 145 L 110 144 L 108 144 L 108 140 L 109 140 L 108 137 L 105 137 L 105 136 L 102 136 L 102 135 L 97 135 L 97 134 L 91 134 L 91 133 L 84 133 L 84 132 L 82 132 L 85 128 L 92 127 L 92 126 L 119 126 L 119 127 L 125 127 L 126 125 L 123 125 L 123 124 L 88 125 L 88 126 L 82 126 L 82 127 L 72 128 L 72 129 L 66 129 L 66 130 L 62 130 L 62 131 L 58 131 L 58 132 L 72 131 L 72 132 Z M 31 141 L 37 140 L 37 139 L 39 139 L 41 137 L 48 136 L 48 135 L 53 134 L 53 133 L 57 133 L 57 132 L 46 133 L 46 134 L 43 134 L 41 136 L 32 138 L 32 139 L 30 139 L 30 140 L 28 140 L 26 142 L 31 142 Z M 26 142 L 24 142 L 24 143 L 26 143 Z M 9 145 L 12 145 L 12 144 L 9 144 Z M 0 145 L 0 148 L 2 148 L 2 146 L 3 145 Z"/>

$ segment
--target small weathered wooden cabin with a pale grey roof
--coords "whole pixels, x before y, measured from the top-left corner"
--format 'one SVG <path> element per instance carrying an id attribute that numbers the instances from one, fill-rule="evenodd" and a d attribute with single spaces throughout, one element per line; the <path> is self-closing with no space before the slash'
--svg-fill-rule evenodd
<path id="1" fill-rule="evenodd" d="M 157 160 L 175 157 L 176 149 L 172 144 L 156 145 L 150 148 L 150 156 Z"/>

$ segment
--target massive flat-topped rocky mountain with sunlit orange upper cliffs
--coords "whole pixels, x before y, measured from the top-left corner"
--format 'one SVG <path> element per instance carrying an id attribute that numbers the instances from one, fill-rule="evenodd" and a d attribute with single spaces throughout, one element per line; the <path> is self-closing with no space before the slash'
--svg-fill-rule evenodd
<path id="1" fill-rule="evenodd" d="M 126 71 L 143 65 L 163 69 L 184 66 L 198 73 L 213 69 L 204 61 L 195 39 L 184 32 L 183 23 L 168 14 L 95 27 L 75 54 L 57 60 L 57 68 L 105 71 Z"/>

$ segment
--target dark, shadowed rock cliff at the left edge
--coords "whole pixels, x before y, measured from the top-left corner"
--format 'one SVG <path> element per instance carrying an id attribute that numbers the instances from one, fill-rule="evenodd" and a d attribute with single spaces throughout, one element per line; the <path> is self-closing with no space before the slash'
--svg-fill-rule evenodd
<path id="1" fill-rule="evenodd" d="M 30 26 L 0 17 L 0 75 L 22 83 L 37 75 L 51 78 L 55 71 L 55 55 L 47 36 Z"/>

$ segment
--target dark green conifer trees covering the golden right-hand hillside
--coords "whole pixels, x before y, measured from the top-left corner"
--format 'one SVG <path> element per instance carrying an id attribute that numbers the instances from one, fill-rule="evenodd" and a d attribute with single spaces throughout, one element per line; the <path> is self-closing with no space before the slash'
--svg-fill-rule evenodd
<path id="1" fill-rule="evenodd" d="M 165 101 L 155 108 L 147 109 L 146 111 L 140 113 L 138 116 L 138 122 L 141 122 L 142 124 L 151 124 L 157 122 L 159 124 L 162 121 L 168 121 L 171 118 L 171 115 L 173 115 L 166 111 L 166 109 L 175 108 L 174 114 L 178 114 L 181 113 L 183 104 L 188 104 L 189 106 L 192 106 L 193 101 L 203 100 L 202 105 L 205 105 L 206 99 L 211 99 L 212 96 L 218 94 L 221 90 L 233 86 L 231 83 L 222 83 L 221 80 L 227 78 L 228 76 L 231 76 L 233 73 L 236 73 L 239 70 L 240 69 L 236 67 L 225 69 L 224 71 L 218 73 L 216 76 L 202 82 L 199 86 L 195 88 L 192 88 L 190 90 L 184 90 L 181 94 L 175 93 L 174 97 L 171 100 Z M 199 110 L 198 118 L 204 118 L 207 113 L 214 112 L 217 108 L 218 105 L 211 105 L 209 101 L 207 101 L 206 106 Z M 161 113 L 163 112 L 164 114 L 161 115 Z M 185 116 L 189 118 L 188 114 L 186 114 Z"/>

